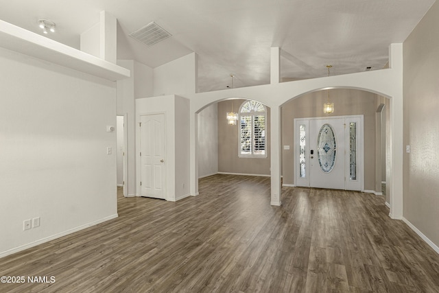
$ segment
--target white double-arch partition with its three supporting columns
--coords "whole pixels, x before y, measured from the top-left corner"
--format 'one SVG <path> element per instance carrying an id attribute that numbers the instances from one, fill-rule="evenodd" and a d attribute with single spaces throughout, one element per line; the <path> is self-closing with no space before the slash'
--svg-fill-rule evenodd
<path id="1" fill-rule="evenodd" d="M 272 205 L 280 205 L 281 194 L 281 106 L 290 99 L 321 89 L 359 89 L 377 93 L 390 101 L 390 150 L 386 178 L 390 186 L 390 217 L 401 219 L 403 215 L 403 91 L 402 45 L 390 46 L 390 68 L 377 71 L 335 75 L 312 80 L 278 83 L 225 91 L 195 93 L 191 100 L 191 195 L 198 194 L 197 169 L 197 117 L 196 113 L 213 102 L 226 97 L 252 97 L 271 109 L 271 195 Z"/>

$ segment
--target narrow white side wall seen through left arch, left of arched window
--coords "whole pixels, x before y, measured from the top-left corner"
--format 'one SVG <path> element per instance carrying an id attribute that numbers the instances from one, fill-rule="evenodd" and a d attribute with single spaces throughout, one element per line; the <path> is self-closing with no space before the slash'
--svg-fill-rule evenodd
<path id="1" fill-rule="evenodd" d="M 218 173 L 218 104 L 198 113 L 198 178 Z"/>

